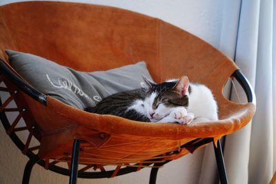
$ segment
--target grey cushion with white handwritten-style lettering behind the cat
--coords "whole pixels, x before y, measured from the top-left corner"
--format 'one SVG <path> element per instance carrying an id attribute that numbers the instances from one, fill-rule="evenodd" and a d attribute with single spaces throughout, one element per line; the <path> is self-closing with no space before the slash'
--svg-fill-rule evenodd
<path id="1" fill-rule="evenodd" d="M 82 110 L 110 94 L 141 88 L 143 75 L 152 79 L 144 61 L 108 71 L 79 72 L 33 54 L 13 50 L 6 53 L 12 68 L 30 85 Z"/>

